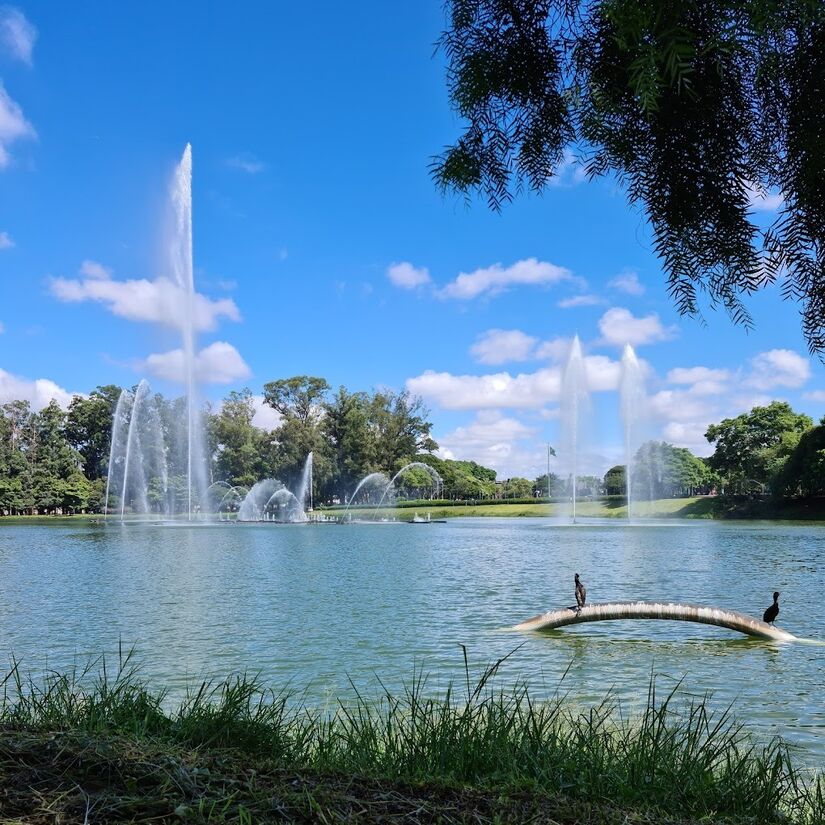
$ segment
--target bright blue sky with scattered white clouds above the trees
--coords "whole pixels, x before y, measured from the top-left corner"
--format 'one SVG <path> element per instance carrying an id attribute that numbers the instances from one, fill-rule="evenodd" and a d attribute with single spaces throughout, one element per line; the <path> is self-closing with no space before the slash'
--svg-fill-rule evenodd
<path id="1" fill-rule="evenodd" d="M 174 300 L 157 279 L 191 142 L 213 400 L 299 373 L 406 387 L 445 455 L 535 475 L 578 333 L 594 470 L 619 457 L 626 341 L 651 436 L 706 453 L 707 424 L 772 398 L 820 418 L 825 370 L 797 308 L 768 289 L 750 333 L 712 310 L 680 319 L 611 181 L 571 159 L 502 214 L 435 190 L 429 160 L 461 128 L 433 52 L 443 24 L 441 2 L 3 7 L 0 402 L 143 375 L 175 391 Z"/>

